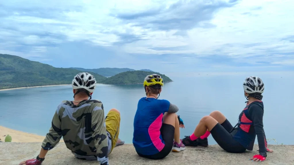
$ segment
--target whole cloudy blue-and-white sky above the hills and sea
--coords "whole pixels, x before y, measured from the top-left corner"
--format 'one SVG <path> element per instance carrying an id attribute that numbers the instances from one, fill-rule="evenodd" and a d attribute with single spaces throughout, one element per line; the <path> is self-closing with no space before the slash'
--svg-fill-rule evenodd
<path id="1" fill-rule="evenodd" d="M 0 53 L 55 67 L 293 71 L 293 0 L 9 0 Z"/>

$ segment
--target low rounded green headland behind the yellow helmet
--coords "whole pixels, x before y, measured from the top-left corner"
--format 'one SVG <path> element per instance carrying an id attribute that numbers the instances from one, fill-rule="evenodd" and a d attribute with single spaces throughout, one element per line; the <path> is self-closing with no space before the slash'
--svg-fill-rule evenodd
<path id="1" fill-rule="evenodd" d="M 143 83 L 144 78 L 147 75 L 151 75 L 154 73 L 161 75 L 164 83 L 172 81 L 166 75 L 162 75 L 160 73 L 145 72 L 145 71 L 136 70 L 136 71 L 127 71 L 127 72 L 119 73 L 117 75 L 114 75 L 114 76 L 104 80 L 102 83 L 103 84 L 141 84 L 141 83 Z"/>

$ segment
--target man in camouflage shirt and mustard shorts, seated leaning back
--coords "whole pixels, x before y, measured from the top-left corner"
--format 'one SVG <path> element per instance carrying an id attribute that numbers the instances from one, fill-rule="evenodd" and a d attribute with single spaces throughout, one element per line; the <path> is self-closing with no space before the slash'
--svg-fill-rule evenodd
<path id="1" fill-rule="evenodd" d="M 46 153 L 63 137 L 66 147 L 76 158 L 98 160 L 101 165 L 108 165 L 108 155 L 118 141 L 120 113 L 111 109 L 104 117 L 102 102 L 91 100 L 96 87 L 93 75 L 77 74 L 72 81 L 72 87 L 74 100 L 65 100 L 57 107 L 40 154 L 36 159 L 20 164 L 41 164 Z"/>

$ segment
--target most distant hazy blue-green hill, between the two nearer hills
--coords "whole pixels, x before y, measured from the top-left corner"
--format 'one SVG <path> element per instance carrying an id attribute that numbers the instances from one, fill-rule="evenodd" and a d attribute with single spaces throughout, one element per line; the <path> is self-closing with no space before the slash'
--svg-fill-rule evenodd
<path id="1" fill-rule="evenodd" d="M 118 73 L 122 73 L 126 71 L 134 71 L 134 69 L 130 69 L 130 68 L 98 68 L 98 69 L 72 68 L 72 69 L 81 70 L 83 72 L 94 72 L 99 75 L 103 75 L 105 77 L 111 77 Z"/>

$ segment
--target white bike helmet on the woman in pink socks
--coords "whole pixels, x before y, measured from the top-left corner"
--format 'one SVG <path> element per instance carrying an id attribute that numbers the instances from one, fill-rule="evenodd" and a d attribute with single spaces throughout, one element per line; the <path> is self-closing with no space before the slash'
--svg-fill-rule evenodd
<path id="1" fill-rule="evenodd" d="M 259 77 L 250 76 L 244 80 L 243 88 L 246 93 L 263 93 L 264 84 Z"/>

